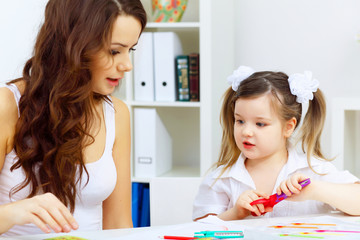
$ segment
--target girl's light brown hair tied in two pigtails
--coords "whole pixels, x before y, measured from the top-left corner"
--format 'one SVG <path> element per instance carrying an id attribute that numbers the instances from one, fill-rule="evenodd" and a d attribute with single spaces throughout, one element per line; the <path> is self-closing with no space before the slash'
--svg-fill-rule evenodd
<path id="1" fill-rule="evenodd" d="M 282 72 L 256 72 L 242 81 L 236 92 L 231 87 L 225 92 L 220 115 L 220 123 L 223 129 L 221 151 L 216 163 L 217 167 L 224 166 L 222 173 L 236 163 L 241 153 L 234 138 L 234 111 L 237 99 L 270 94 L 272 106 L 279 114 L 280 119 L 286 122 L 294 117 L 296 119 L 295 129 L 298 127 L 301 121 L 302 106 L 301 103 L 296 102 L 296 96 L 290 92 L 288 78 Z M 322 154 L 320 147 L 325 116 L 325 99 L 318 89 L 314 93 L 313 100 L 309 101 L 308 111 L 300 129 L 302 150 L 307 154 L 310 168 L 311 156 L 328 160 Z"/>

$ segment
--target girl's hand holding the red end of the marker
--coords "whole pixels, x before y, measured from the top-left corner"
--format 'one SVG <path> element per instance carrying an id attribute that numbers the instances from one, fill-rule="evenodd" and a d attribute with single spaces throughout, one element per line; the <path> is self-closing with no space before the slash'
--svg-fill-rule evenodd
<path id="1" fill-rule="evenodd" d="M 269 196 L 257 190 L 247 190 L 243 192 L 235 204 L 237 215 L 248 216 L 250 215 L 251 212 L 254 212 L 257 216 L 260 216 L 261 214 L 264 214 L 266 212 L 271 212 L 272 208 L 271 207 L 264 208 L 263 204 L 257 204 L 254 206 L 250 205 L 251 202 L 258 200 L 259 198 L 268 199 Z"/>

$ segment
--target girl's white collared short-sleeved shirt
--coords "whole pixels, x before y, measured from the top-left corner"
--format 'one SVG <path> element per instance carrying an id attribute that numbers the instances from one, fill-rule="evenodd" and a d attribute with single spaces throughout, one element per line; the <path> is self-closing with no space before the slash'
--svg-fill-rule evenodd
<path id="1" fill-rule="evenodd" d="M 331 162 L 311 158 L 311 165 L 319 175 L 314 173 L 308 165 L 305 154 L 298 153 L 295 148 L 288 149 L 287 163 L 281 169 L 272 194 L 280 183 L 288 179 L 296 172 L 305 174 L 313 180 L 321 180 L 333 183 L 355 183 L 359 179 L 348 171 L 339 171 Z M 249 172 L 244 165 L 245 158 L 240 154 L 237 162 L 221 176 L 224 166 L 220 166 L 205 176 L 199 187 L 193 205 L 193 219 L 205 216 L 209 213 L 220 214 L 234 207 L 239 196 L 246 190 L 256 189 Z M 220 177 L 219 177 L 220 176 Z M 335 210 L 332 206 L 323 202 L 307 200 L 302 202 L 281 201 L 275 205 L 273 212 L 266 213 L 268 217 L 296 216 L 305 214 L 327 213 Z M 253 218 L 249 216 L 248 218 Z"/>

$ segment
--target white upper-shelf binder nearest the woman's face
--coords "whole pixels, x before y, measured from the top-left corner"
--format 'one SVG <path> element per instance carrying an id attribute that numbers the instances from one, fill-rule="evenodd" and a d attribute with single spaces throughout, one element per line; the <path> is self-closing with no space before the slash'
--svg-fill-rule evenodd
<path id="1" fill-rule="evenodd" d="M 154 101 L 153 33 L 143 32 L 134 52 L 134 100 Z"/>

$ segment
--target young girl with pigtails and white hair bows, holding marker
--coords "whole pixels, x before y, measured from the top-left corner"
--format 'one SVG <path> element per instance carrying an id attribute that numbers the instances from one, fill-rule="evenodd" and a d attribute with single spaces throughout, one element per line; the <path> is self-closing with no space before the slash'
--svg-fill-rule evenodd
<path id="1" fill-rule="evenodd" d="M 360 215 L 359 179 L 338 171 L 320 148 L 325 100 L 310 72 L 253 72 L 241 66 L 228 78 L 221 111 L 223 137 L 217 168 L 206 176 L 194 201 L 193 219 L 217 215 L 243 219 L 326 213 Z M 298 127 L 302 103 L 309 103 L 301 127 L 302 151 L 289 138 Z M 310 185 L 299 182 L 310 178 Z M 271 194 L 288 198 L 274 209 L 250 203 Z"/>

